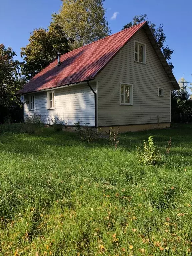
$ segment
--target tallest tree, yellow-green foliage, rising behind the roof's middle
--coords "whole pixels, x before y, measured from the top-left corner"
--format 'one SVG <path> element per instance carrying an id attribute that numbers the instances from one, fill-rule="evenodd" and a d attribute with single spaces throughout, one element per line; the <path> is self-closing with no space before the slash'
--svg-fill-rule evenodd
<path id="1" fill-rule="evenodd" d="M 79 48 L 109 35 L 105 19 L 104 0 L 62 0 L 58 14 L 53 14 L 53 22 L 60 25 L 68 38 L 71 49 Z M 73 43 L 72 43 L 73 42 Z"/>

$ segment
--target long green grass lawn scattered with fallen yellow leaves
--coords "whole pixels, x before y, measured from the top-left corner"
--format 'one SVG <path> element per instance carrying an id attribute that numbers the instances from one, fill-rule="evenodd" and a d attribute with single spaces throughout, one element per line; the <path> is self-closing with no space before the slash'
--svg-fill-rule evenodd
<path id="1" fill-rule="evenodd" d="M 154 135 L 165 165 L 142 166 Z M 0 134 L 0 255 L 191 255 L 192 125 L 86 143 L 44 128 Z"/>

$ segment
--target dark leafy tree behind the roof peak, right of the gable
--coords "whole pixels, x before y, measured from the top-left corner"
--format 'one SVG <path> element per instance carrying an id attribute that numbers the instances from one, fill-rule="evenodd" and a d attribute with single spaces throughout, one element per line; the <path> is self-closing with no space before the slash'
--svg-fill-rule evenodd
<path id="1" fill-rule="evenodd" d="M 158 27 L 155 23 L 152 23 L 151 21 L 148 20 L 148 17 L 146 14 L 144 15 L 136 15 L 133 17 L 133 21 L 127 23 L 122 30 L 129 28 L 131 26 L 137 25 L 143 21 L 147 21 L 149 24 L 149 27 L 160 47 L 160 49 L 162 50 L 162 53 L 165 57 L 165 59 L 167 61 L 169 61 L 171 59 L 171 55 L 173 54 L 173 50 L 169 48 L 168 45 L 166 45 L 166 36 L 165 33 L 163 31 L 163 24 L 160 24 Z M 169 66 L 171 68 L 171 70 L 173 70 L 174 66 L 172 64 L 172 62 L 168 62 Z"/>

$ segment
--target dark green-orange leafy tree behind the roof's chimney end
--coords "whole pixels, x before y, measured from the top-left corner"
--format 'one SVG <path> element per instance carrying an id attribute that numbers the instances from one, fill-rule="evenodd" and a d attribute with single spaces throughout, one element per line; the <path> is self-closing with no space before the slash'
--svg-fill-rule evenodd
<path id="1" fill-rule="evenodd" d="M 48 29 L 35 29 L 29 38 L 29 44 L 21 48 L 22 74 L 32 78 L 57 57 L 57 52 L 69 51 L 68 39 L 63 29 L 51 23 Z"/>

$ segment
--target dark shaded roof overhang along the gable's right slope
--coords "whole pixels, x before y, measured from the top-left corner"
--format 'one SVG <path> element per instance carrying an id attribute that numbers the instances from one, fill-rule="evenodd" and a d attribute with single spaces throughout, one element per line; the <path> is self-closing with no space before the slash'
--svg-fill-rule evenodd
<path id="1" fill-rule="evenodd" d="M 153 36 L 153 33 L 149 27 L 149 25 L 147 24 L 147 22 L 144 24 L 143 26 L 143 30 L 145 31 L 145 34 L 147 36 L 147 38 L 149 39 L 149 42 L 151 43 L 152 48 L 154 49 L 159 61 L 161 62 L 163 69 L 165 70 L 165 73 L 167 74 L 169 81 L 171 82 L 173 88 L 175 90 L 179 90 L 179 84 L 175 78 L 175 76 L 173 75 L 173 72 L 171 70 L 171 68 L 169 67 L 169 64 L 167 63 L 160 47 L 157 44 L 157 41 L 155 39 L 155 37 Z"/>

